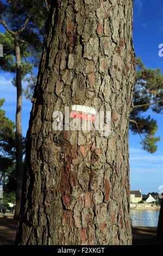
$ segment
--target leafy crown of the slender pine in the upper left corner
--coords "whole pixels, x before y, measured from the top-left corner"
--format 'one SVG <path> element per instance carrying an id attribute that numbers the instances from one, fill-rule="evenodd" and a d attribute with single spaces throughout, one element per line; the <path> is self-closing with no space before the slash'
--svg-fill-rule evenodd
<path id="1" fill-rule="evenodd" d="M 49 2 L 47 1 L 48 4 Z M 19 31 L 29 18 L 18 38 L 21 49 L 22 80 L 27 83 L 27 88 L 23 92 L 29 98 L 36 83 L 33 68 L 38 67 L 41 58 L 43 35 L 48 16 L 46 1 L 0 1 L 0 15 L 13 32 Z M 4 57 L 0 58 L 0 70 L 12 72 L 15 75 L 12 84 L 16 86 L 14 35 L 8 31 L 0 33 L 0 42 L 4 48 Z M 30 74 L 30 77 L 26 77 L 27 74 Z"/>

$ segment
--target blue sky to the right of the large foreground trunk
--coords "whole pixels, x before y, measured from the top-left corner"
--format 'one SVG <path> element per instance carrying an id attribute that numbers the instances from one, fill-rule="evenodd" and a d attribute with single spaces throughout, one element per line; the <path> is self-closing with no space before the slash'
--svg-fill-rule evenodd
<path id="1" fill-rule="evenodd" d="M 133 39 L 136 57 L 141 56 L 147 68 L 160 68 L 163 73 L 163 57 L 159 57 L 159 44 L 163 43 L 162 0 L 134 0 Z M 163 131 L 162 115 L 152 113 L 157 120 L 156 136 L 161 137 L 158 150 L 149 154 L 141 149 L 139 135 L 129 132 L 130 188 L 142 193 L 159 192 L 163 185 Z"/>

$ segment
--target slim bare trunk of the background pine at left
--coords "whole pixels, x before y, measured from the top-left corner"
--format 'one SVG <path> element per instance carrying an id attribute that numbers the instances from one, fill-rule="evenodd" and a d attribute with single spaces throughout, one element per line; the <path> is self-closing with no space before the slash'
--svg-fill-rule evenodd
<path id="1" fill-rule="evenodd" d="M 23 180 L 23 163 L 22 163 L 22 77 L 21 77 L 21 54 L 18 44 L 18 37 L 15 36 L 15 55 L 16 55 L 16 206 L 14 219 L 17 220 L 20 215 L 22 180 Z"/>

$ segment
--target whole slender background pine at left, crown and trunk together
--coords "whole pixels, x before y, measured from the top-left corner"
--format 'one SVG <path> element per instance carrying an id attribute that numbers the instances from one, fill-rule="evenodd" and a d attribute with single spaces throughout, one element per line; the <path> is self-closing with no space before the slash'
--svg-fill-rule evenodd
<path id="1" fill-rule="evenodd" d="M 0 1 L 0 23 L 6 29 L 0 41 L 4 45 L 4 58 L 0 62 L 3 71 L 15 74 L 12 83 L 16 86 L 16 208 L 17 219 L 20 212 L 22 178 L 23 178 L 23 147 L 22 147 L 22 79 L 26 77 L 28 88 L 35 87 L 36 76 L 33 67 L 39 63 L 42 51 L 42 40 L 45 21 L 49 11 L 47 1 L 7 0 Z M 28 58 L 30 57 L 30 61 Z M 31 63 L 32 62 L 32 63 Z"/>

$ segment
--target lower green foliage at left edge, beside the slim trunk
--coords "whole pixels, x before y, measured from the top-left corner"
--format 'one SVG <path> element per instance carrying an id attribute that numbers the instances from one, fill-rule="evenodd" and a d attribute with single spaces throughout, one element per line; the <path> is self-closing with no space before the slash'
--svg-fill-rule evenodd
<path id="1" fill-rule="evenodd" d="M 5 116 L 1 109 L 4 99 L 0 100 L 0 185 L 3 185 L 3 204 L 15 203 L 16 191 L 16 139 L 15 123 Z M 23 149 L 24 149 L 23 138 Z M 24 152 L 24 151 L 23 151 Z"/>

